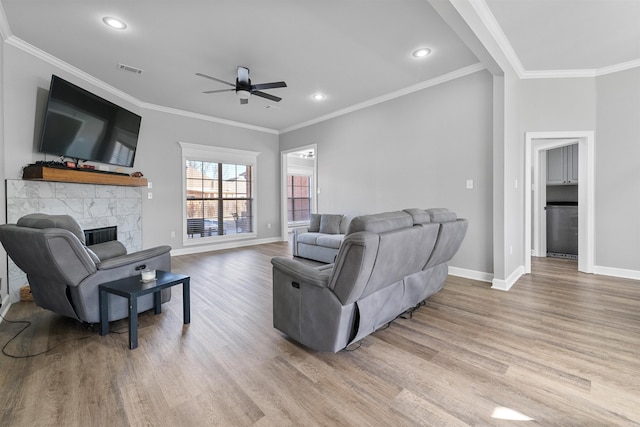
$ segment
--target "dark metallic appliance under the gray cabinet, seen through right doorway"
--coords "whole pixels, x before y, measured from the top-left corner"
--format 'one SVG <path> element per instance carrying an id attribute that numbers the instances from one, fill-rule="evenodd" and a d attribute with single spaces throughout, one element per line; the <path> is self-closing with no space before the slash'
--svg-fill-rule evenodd
<path id="1" fill-rule="evenodd" d="M 547 203 L 547 256 L 578 258 L 578 204 Z"/>

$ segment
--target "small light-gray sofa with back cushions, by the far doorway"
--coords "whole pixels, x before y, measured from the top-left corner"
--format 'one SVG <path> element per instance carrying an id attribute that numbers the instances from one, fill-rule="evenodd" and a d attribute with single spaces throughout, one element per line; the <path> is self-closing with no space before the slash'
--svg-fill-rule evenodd
<path id="1" fill-rule="evenodd" d="M 309 228 L 293 230 L 293 256 L 332 263 L 349 227 L 340 214 L 312 214 Z"/>

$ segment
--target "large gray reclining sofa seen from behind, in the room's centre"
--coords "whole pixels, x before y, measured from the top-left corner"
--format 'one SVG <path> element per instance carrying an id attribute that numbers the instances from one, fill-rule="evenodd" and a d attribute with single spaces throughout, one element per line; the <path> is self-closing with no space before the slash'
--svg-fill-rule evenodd
<path id="1" fill-rule="evenodd" d="M 361 340 L 442 289 L 467 227 L 447 209 L 364 215 L 335 264 L 273 258 L 274 327 L 317 351 Z"/>

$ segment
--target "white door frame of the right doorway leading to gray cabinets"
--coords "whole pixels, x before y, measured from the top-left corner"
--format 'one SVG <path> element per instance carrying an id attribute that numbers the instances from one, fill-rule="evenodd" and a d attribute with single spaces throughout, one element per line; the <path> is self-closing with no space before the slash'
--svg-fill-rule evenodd
<path id="1" fill-rule="evenodd" d="M 578 271 L 593 273 L 595 258 L 595 136 L 593 131 L 526 132 L 525 133 L 525 273 L 531 273 L 531 236 L 535 236 L 534 253 L 538 254 L 541 216 L 544 201 L 540 194 L 546 180 L 541 176 L 540 158 L 546 150 L 578 141 Z M 532 206 L 533 203 L 533 206 Z M 533 214 L 533 221 L 532 221 Z"/>

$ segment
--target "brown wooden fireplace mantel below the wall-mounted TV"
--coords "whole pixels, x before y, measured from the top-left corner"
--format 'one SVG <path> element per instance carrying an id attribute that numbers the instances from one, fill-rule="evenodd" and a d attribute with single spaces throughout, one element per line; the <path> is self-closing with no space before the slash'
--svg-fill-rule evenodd
<path id="1" fill-rule="evenodd" d="M 129 175 L 50 168 L 42 165 L 26 166 L 22 171 L 22 179 L 36 181 L 75 182 L 79 184 L 123 185 L 128 187 L 146 187 L 146 178 L 135 178 Z"/>

